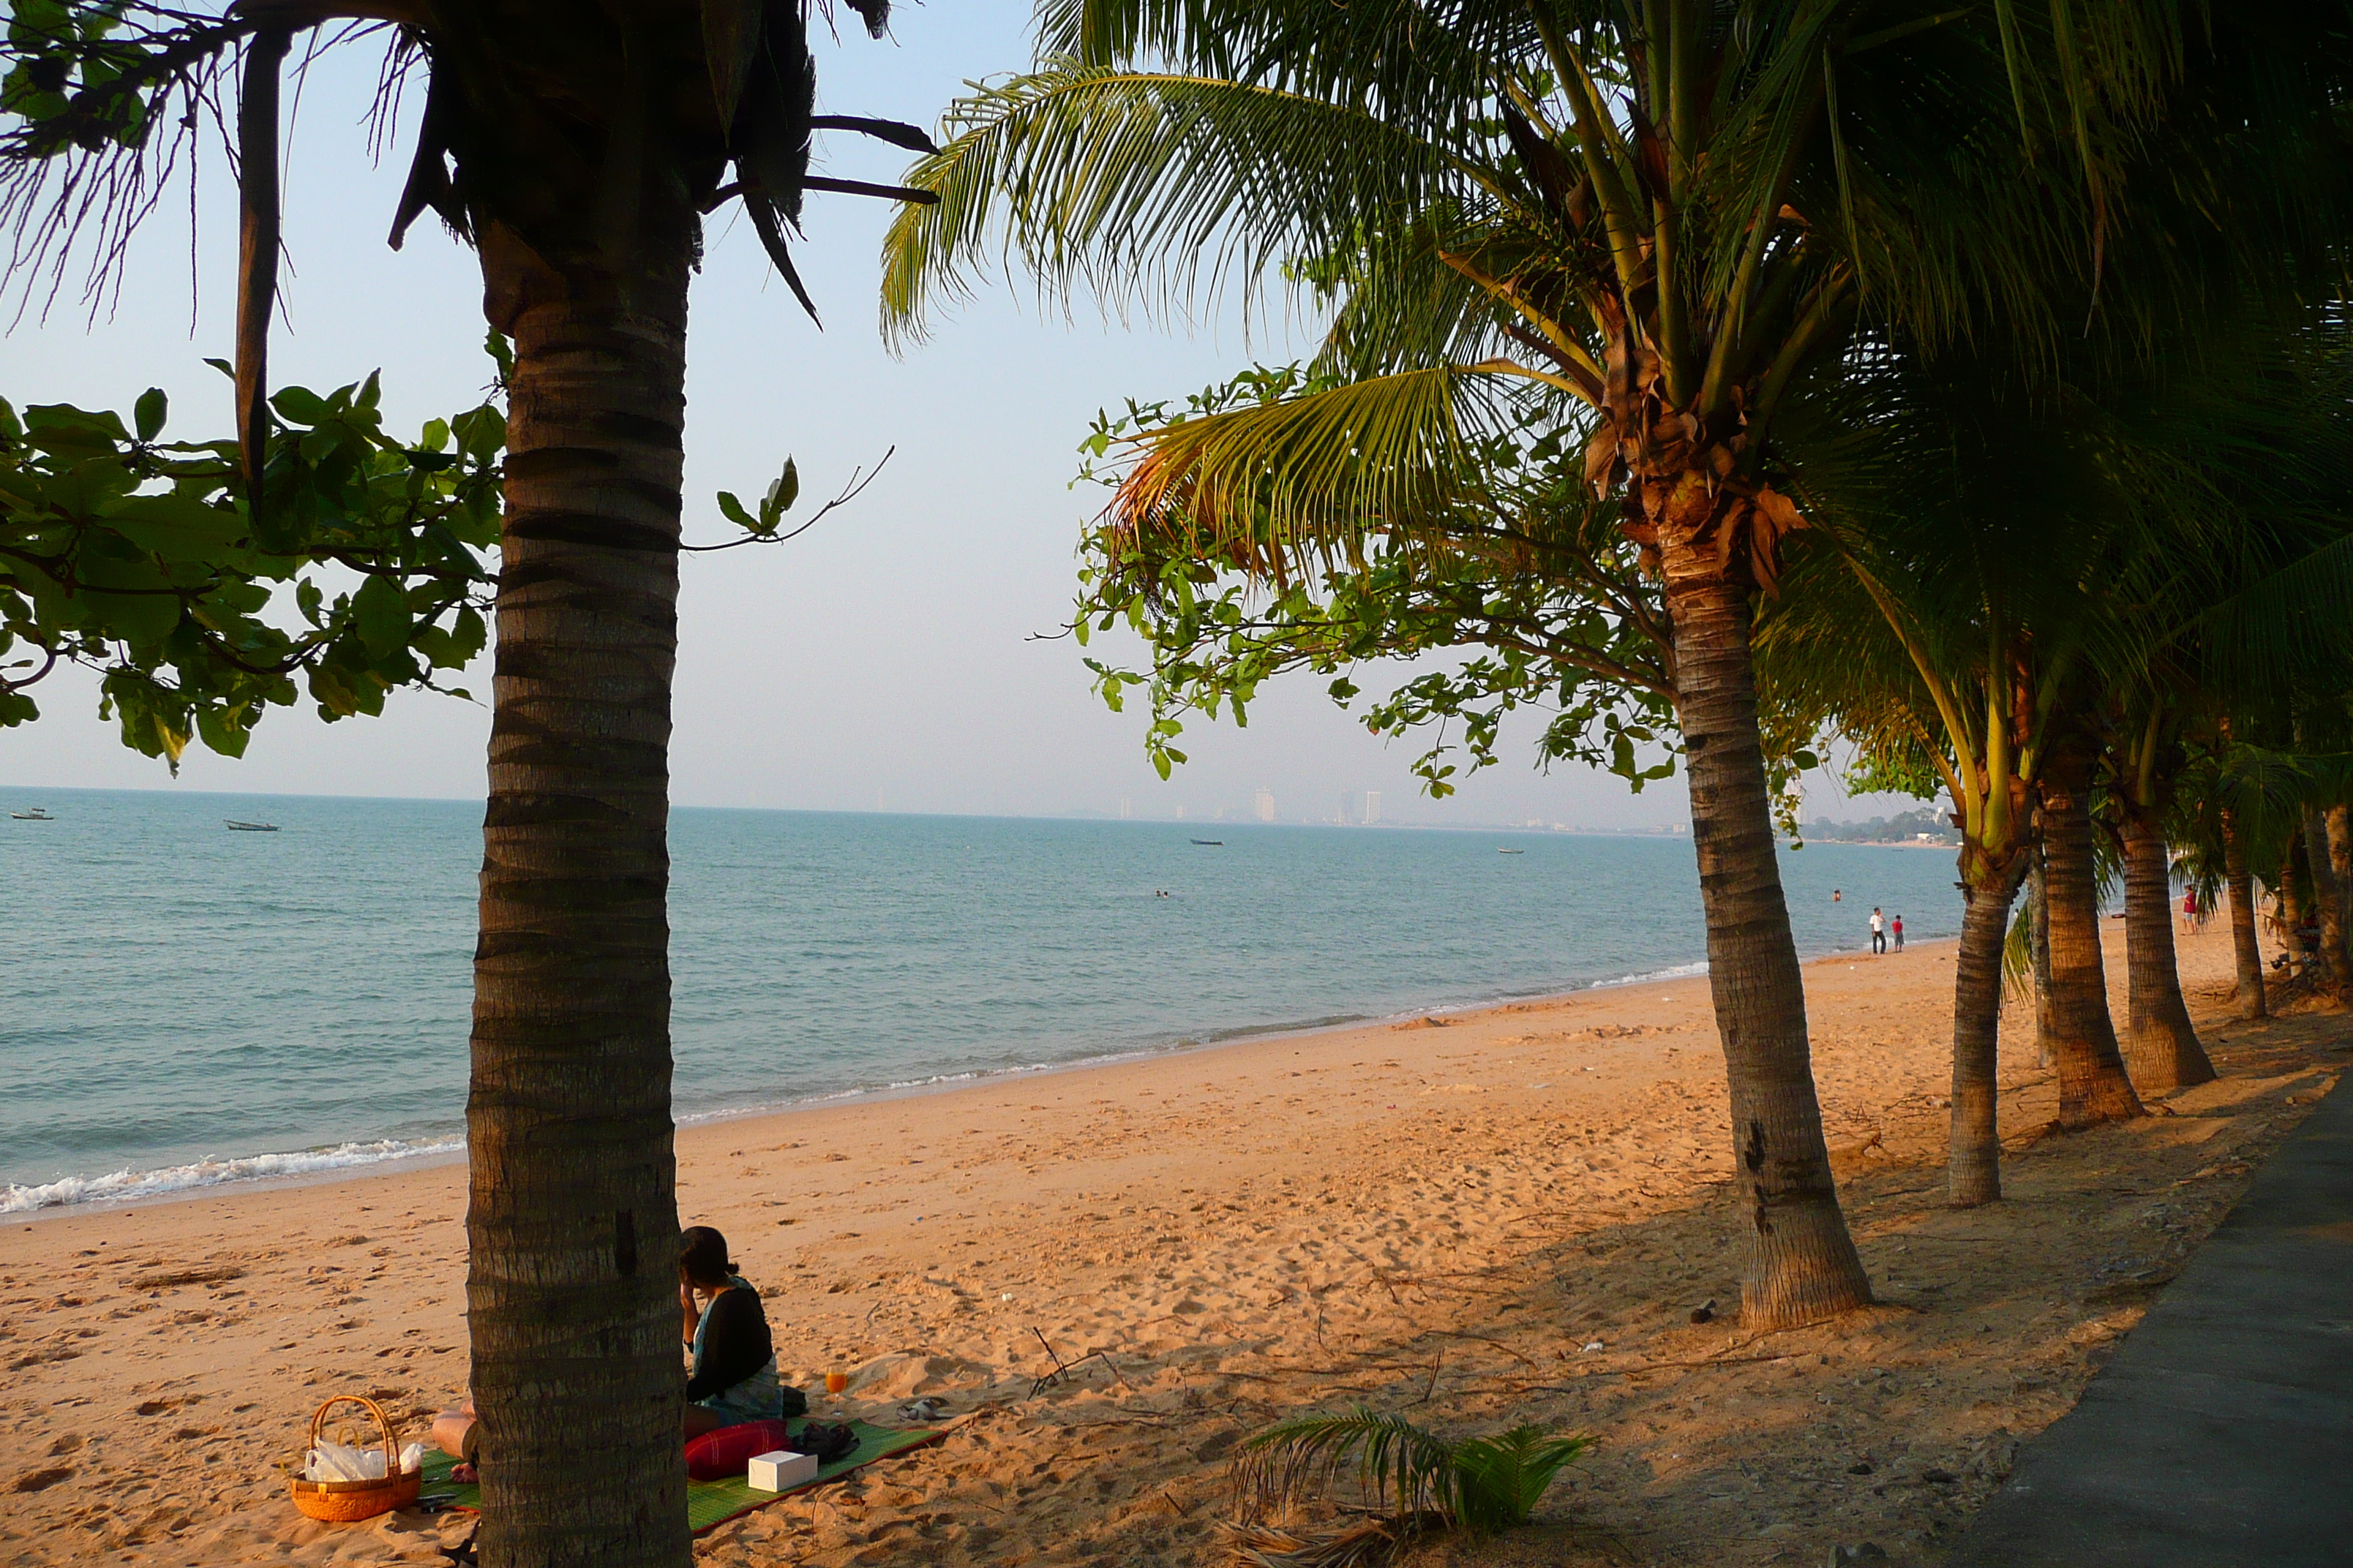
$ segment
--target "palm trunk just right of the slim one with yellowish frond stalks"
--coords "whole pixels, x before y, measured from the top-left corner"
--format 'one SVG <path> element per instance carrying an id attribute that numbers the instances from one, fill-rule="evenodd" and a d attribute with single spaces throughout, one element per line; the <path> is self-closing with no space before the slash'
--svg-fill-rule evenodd
<path id="1" fill-rule="evenodd" d="M 2052 1044 L 2059 1056 L 2059 1126 L 2141 1114 L 2108 1018 L 2099 954 L 2099 879 L 2092 870 L 2089 764 L 2052 755 L 2042 783 L 2042 875 L 2052 905 Z"/>

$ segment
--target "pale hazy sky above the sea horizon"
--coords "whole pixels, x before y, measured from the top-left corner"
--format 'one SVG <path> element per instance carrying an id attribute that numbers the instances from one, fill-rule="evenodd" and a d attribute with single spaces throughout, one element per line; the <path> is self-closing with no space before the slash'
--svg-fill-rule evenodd
<path id="1" fill-rule="evenodd" d="M 958 0 L 899 7 L 885 42 L 854 26 L 838 47 L 819 38 L 821 110 L 934 125 L 967 78 L 1026 63 L 1026 26 L 1021 0 Z M 301 89 L 271 378 L 329 388 L 381 367 L 393 425 L 414 428 L 471 407 L 489 364 L 471 252 L 431 216 L 405 252 L 384 244 L 414 127 L 369 162 L 360 115 L 376 63 L 372 45 L 339 49 Z M 906 155 L 831 136 L 819 158 L 835 174 L 892 179 Z M 120 306 L 96 327 L 68 292 L 47 322 L 0 339 L 0 395 L 127 409 L 141 388 L 162 386 L 174 435 L 226 433 L 228 383 L 202 364 L 231 353 L 235 292 L 235 190 L 216 158 L 198 200 L 193 336 L 179 190 L 151 219 Z M 1537 773 L 1532 724 L 1459 797 L 1419 799 L 1407 771 L 1419 748 L 1365 736 L 1313 677 L 1259 701 L 1247 731 L 1195 724 L 1184 741 L 1193 762 L 1160 783 L 1144 762 L 1139 710 L 1108 715 L 1068 639 L 1031 639 L 1068 616 L 1073 548 L 1099 505 L 1071 489 L 1075 447 L 1099 407 L 1184 395 L 1252 357 L 1280 362 L 1308 346 L 1280 320 L 1254 324 L 1245 341 L 1231 313 L 1195 334 L 1106 324 L 1087 303 L 1066 320 L 1040 313 L 1016 275 L 892 357 L 875 329 L 887 221 L 882 202 L 809 197 L 795 254 L 824 331 L 769 273 L 746 223 L 729 214 L 713 223 L 687 355 L 689 538 L 729 536 L 713 491 L 762 491 L 786 454 L 800 463 L 802 508 L 885 449 L 896 456 L 854 505 L 791 545 L 685 559 L 680 804 L 1059 813 L 1129 799 L 1136 816 L 1176 804 L 1207 816 L 1247 811 L 1264 785 L 1285 820 L 1329 816 L 1344 792 L 1362 790 L 1381 790 L 1386 816 L 1409 820 L 1682 818 L 1680 780 L 1631 797 L 1581 769 Z M 1374 670 L 1360 684 L 1386 689 L 1386 679 Z M 468 684 L 487 698 L 487 658 Z M 0 731 L 0 785 L 174 788 L 162 764 L 96 722 L 94 691 L 71 672 L 35 689 L 42 719 Z M 487 719 L 485 708 L 438 696 L 400 696 L 381 719 L 332 726 L 308 703 L 271 710 L 242 762 L 191 748 L 176 788 L 473 797 Z M 1809 802 L 1842 811 L 1826 783 Z"/>

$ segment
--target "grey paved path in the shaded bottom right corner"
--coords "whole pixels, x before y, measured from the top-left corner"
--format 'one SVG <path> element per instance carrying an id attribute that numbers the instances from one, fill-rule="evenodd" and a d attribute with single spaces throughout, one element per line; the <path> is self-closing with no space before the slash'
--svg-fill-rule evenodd
<path id="1" fill-rule="evenodd" d="M 2353 1088 L 2257 1171 L 1944 1563 L 2353 1563 Z"/>

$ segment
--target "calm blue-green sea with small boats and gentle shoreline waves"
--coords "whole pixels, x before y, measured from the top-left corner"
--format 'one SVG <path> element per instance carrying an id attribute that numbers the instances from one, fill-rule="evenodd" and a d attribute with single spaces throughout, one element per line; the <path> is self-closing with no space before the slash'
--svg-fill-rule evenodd
<path id="1" fill-rule="evenodd" d="M 56 816 L 0 820 L 0 1213 L 459 1147 L 478 802 L 0 802 Z M 682 809 L 671 856 L 682 1119 L 1704 969 L 1687 837 Z M 1784 879 L 1807 954 L 1960 929 L 1946 851 Z"/>

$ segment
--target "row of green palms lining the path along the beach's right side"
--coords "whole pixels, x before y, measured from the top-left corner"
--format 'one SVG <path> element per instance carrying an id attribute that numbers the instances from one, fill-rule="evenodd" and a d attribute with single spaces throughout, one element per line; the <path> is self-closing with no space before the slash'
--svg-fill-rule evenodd
<path id="1" fill-rule="evenodd" d="M 911 176 L 939 202 L 887 242 L 885 327 L 925 331 L 1000 247 L 1054 292 L 1325 313 L 1304 371 L 1099 433 L 1125 461 L 1082 625 L 1153 651 L 1106 689 L 1153 686 L 1165 752 L 1179 708 L 1292 665 L 1346 696 L 1355 661 L 1454 639 L 1485 651 L 1374 722 L 1461 717 L 1473 762 L 1548 684 L 1553 755 L 1624 755 L 1664 698 L 1744 1321 L 1795 1324 L 1871 1295 L 1774 856 L 1814 736 L 1962 827 L 1953 1201 L 2000 1194 L 2031 875 L 2061 1121 L 2212 1077 L 2169 952 L 2184 773 L 2282 684 L 2353 689 L 2348 42 L 2266 5 L 1066 0 Z"/>

